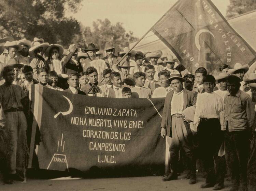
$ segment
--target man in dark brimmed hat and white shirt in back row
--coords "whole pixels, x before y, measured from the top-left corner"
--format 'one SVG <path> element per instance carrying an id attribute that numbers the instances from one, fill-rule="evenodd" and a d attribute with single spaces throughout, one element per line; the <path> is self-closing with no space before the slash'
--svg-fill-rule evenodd
<path id="1" fill-rule="evenodd" d="M 98 81 L 101 82 L 103 70 L 107 69 L 108 66 L 104 60 L 96 56 L 96 52 L 99 51 L 99 49 L 93 43 L 89 43 L 87 47 L 88 48 L 84 49 L 84 52 L 88 54 L 88 58 L 81 62 L 83 64 L 83 71 L 86 71 L 89 66 L 93 66 L 98 71 Z"/>

